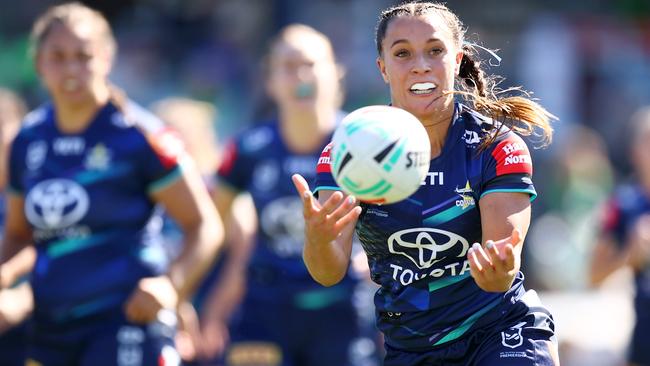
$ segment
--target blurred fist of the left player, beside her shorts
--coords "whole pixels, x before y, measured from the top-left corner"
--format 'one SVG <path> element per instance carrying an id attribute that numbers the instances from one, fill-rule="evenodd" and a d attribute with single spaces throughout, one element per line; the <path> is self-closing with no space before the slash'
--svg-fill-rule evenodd
<path id="1" fill-rule="evenodd" d="M 126 317 L 138 324 L 151 323 L 160 310 L 176 309 L 177 304 L 178 293 L 169 277 L 146 277 L 126 301 Z"/>

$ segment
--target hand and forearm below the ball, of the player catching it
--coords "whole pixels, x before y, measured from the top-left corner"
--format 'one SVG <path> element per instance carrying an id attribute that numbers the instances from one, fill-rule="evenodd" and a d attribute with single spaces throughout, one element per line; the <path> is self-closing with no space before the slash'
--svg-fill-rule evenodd
<path id="1" fill-rule="evenodd" d="M 354 226 L 361 207 L 353 196 L 338 191 L 319 191 L 316 200 L 305 178 L 295 174 L 292 180 L 303 202 L 303 260 L 316 282 L 333 286 L 345 277 L 350 265 Z"/>

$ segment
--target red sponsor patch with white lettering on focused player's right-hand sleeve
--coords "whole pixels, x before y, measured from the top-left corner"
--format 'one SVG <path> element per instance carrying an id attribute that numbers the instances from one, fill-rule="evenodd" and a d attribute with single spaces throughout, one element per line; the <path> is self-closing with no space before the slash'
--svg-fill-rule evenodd
<path id="1" fill-rule="evenodd" d="M 526 144 L 517 136 L 509 136 L 492 151 L 497 162 L 497 176 L 504 174 L 533 174 L 533 164 Z"/>

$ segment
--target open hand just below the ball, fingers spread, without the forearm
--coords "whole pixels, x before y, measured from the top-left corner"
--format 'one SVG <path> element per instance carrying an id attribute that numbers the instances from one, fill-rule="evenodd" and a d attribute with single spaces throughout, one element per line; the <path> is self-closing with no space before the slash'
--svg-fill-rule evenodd
<path id="1" fill-rule="evenodd" d="M 305 236 L 314 245 L 328 244 L 336 239 L 344 227 L 361 214 L 361 207 L 353 196 L 344 197 L 334 192 L 321 205 L 309 190 L 309 184 L 300 174 L 291 177 L 303 202 Z"/>

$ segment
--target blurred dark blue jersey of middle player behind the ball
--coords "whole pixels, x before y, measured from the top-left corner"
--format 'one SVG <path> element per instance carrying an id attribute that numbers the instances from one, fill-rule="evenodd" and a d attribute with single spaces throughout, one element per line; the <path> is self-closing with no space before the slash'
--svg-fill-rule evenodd
<path id="1" fill-rule="evenodd" d="M 236 191 L 248 191 L 259 216 L 249 264 L 249 297 L 309 308 L 349 296 L 347 289 L 341 291 L 349 279 L 324 288 L 311 278 L 302 260 L 302 201 L 291 175 L 299 173 L 313 181 L 314 166 L 327 142 L 311 153 L 294 153 L 282 140 L 278 123 L 271 122 L 248 129 L 228 143 L 219 180 Z M 311 290 L 317 292 L 306 295 Z"/>

